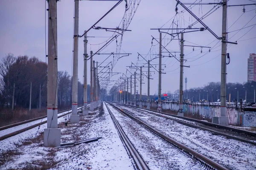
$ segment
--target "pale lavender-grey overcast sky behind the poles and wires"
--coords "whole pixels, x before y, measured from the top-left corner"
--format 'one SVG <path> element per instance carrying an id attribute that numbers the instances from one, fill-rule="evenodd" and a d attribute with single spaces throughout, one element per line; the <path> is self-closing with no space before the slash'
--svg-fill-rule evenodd
<path id="1" fill-rule="evenodd" d="M 129 0 L 128 0 L 129 1 Z M 190 0 L 181 0 L 181 2 L 194 2 Z M 202 3 L 218 2 L 219 0 L 202 0 Z M 199 0 L 198 0 L 199 2 Z M 103 1 L 79 1 L 79 34 L 83 34 L 84 30 L 90 28 L 102 15 L 104 15 L 116 2 Z M 248 4 L 253 3 L 250 0 L 230 0 L 228 5 Z M 123 36 L 121 52 L 132 53 L 129 57 L 119 59 L 113 68 L 113 72 L 126 73 L 126 67 L 131 65 L 131 62 L 145 63 L 140 57 L 137 59 L 137 52 L 140 54 L 148 54 L 151 48 L 152 36 L 159 38 L 157 30 L 150 28 L 160 28 L 168 20 L 175 16 L 175 0 L 141 0 L 139 8 L 131 21 L 128 29 Z M 189 5 L 186 5 L 189 6 Z M 192 8 L 198 17 L 206 14 L 212 5 L 195 6 Z M 256 6 L 245 6 L 246 12 L 243 13 L 243 7 L 228 7 L 228 27 L 234 22 L 233 26 L 228 29 L 235 31 L 244 28 L 241 31 L 235 31 L 228 34 L 229 41 L 235 42 L 238 40 L 238 45 L 228 44 L 227 52 L 230 53 L 230 64 L 227 65 L 227 81 L 228 82 L 245 82 L 247 81 L 247 58 L 250 53 L 256 53 Z M 58 2 L 58 70 L 67 70 L 72 74 L 72 48 L 73 48 L 73 12 L 74 1 L 62 0 Z M 122 2 L 115 8 L 107 17 L 105 17 L 97 26 L 116 28 L 122 20 L 125 11 L 125 2 Z M 181 6 L 178 6 L 178 11 L 184 11 Z M 240 17 L 240 18 L 239 18 Z M 239 18 L 239 20 L 237 20 Z M 178 21 L 177 21 L 178 19 Z M 218 8 L 211 15 L 202 21 L 215 32 L 218 36 L 221 35 L 222 7 Z M 237 21 L 236 21 L 237 20 Z M 249 22 L 250 21 L 250 22 Z M 176 24 L 179 27 L 186 28 L 195 18 L 192 18 L 188 12 L 178 14 L 175 17 Z M 0 57 L 3 58 L 8 53 L 13 53 L 15 56 L 28 55 L 35 56 L 45 61 L 45 1 L 44 0 L 0 0 Z M 47 23 L 46 23 L 47 24 Z M 166 23 L 163 28 L 169 28 L 172 20 Z M 202 27 L 201 24 L 196 24 L 194 27 Z M 252 29 L 251 29 L 252 28 Z M 251 30 L 250 30 L 251 29 Z M 250 31 L 249 31 L 250 30 Z M 249 31 L 247 33 L 247 31 Z M 247 34 L 245 34 L 247 33 Z M 244 35 L 245 34 L 245 35 Z M 111 32 L 105 30 L 90 30 L 87 36 L 111 36 Z M 234 36 L 233 36 L 234 35 Z M 164 36 L 164 34 L 163 34 Z M 233 37 L 232 37 L 233 36 Z M 163 40 L 163 45 L 166 45 L 170 36 L 166 36 Z M 79 80 L 83 81 L 83 39 L 79 39 Z M 101 45 L 94 45 L 105 42 L 108 38 L 88 38 L 88 54 L 90 50 L 96 52 Z M 250 40 L 248 40 L 250 39 Z M 158 39 L 159 40 L 159 39 Z M 188 78 L 187 88 L 199 87 L 208 82 L 218 82 L 221 78 L 221 42 L 209 32 L 195 32 L 184 34 L 185 45 L 207 45 L 212 48 L 210 53 L 208 49 L 185 47 L 185 59 L 188 59 L 184 65 L 190 65 L 190 68 L 184 69 L 184 77 Z M 120 36 L 118 42 L 120 41 Z M 192 42 L 192 43 L 191 43 Z M 212 42 L 212 43 L 211 43 Z M 210 44 L 211 43 L 211 44 Z M 168 50 L 180 51 L 178 40 L 173 40 L 166 46 Z M 153 40 L 151 54 L 158 54 L 159 45 Z M 165 51 L 165 50 L 163 50 Z M 116 52 L 116 42 L 105 48 L 102 53 Z M 149 53 L 149 54 L 150 54 Z M 163 55 L 168 55 L 163 53 Z M 143 55 L 145 56 L 145 55 Z M 102 62 L 105 57 L 96 55 L 94 60 Z M 146 59 L 154 56 L 148 55 Z M 179 53 L 176 53 L 179 57 Z M 110 57 L 106 62 L 113 60 Z M 158 59 L 154 59 L 151 63 L 158 64 Z M 162 92 L 175 91 L 179 88 L 179 62 L 173 57 L 164 57 L 162 63 L 166 64 L 166 68 L 162 75 Z M 89 64 L 89 63 L 88 63 Z M 103 64 L 102 64 L 103 65 Z M 89 65 L 88 65 L 89 66 Z M 157 66 L 158 69 L 158 66 Z M 146 71 L 146 68 L 145 68 Z M 153 69 L 151 68 L 151 71 Z M 133 71 L 134 72 L 134 71 Z M 88 69 L 89 73 L 89 69 Z M 139 73 L 139 72 L 138 72 Z M 116 75 L 112 79 L 116 80 L 121 75 Z M 150 93 L 157 92 L 158 74 L 152 73 Z M 90 78 L 88 78 L 88 83 Z M 143 94 L 147 93 L 147 80 L 144 78 Z M 111 83 L 113 84 L 113 83 Z"/>

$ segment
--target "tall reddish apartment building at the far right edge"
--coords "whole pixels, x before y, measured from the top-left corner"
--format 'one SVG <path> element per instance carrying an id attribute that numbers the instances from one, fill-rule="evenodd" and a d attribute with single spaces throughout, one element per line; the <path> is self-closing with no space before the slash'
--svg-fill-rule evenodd
<path id="1" fill-rule="evenodd" d="M 256 54 L 250 54 L 247 63 L 247 82 L 256 82 Z"/>

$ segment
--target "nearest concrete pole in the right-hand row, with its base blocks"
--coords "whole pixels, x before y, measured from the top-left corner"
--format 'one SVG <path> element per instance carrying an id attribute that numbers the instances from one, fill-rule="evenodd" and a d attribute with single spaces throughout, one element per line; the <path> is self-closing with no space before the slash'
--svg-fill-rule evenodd
<path id="1" fill-rule="evenodd" d="M 222 37 L 221 37 L 221 116 L 212 118 L 212 123 L 220 125 L 228 125 L 227 117 L 227 65 L 226 65 L 226 54 L 227 54 L 227 0 L 223 0 L 222 4 Z"/>

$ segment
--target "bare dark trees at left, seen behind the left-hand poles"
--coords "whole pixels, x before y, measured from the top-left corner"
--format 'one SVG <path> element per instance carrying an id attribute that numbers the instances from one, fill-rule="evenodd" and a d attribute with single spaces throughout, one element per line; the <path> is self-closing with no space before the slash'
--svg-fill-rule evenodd
<path id="1" fill-rule="evenodd" d="M 32 85 L 32 86 L 31 86 Z M 29 108 L 30 86 L 31 108 L 47 106 L 47 64 L 37 57 L 7 54 L 0 61 L 0 108 Z M 40 101 L 41 87 L 41 103 Z M 90 101 L 90 85 L 87 85 L 87 100 Z M 67 71 L 58 71 L 58 108 L 71 106 L 72 77 Z M 78 81 L 78 104 L 83 102 L 83 84 Z"/>

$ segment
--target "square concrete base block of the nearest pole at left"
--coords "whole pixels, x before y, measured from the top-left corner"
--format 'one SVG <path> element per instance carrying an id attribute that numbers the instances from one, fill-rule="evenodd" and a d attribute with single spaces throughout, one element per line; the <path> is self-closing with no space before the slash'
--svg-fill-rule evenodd
<path id="1" fill-rule="evenodd" d="M 61 129 L 47 128 L 44 129 L 44 147 L 61 146 Z"/>

